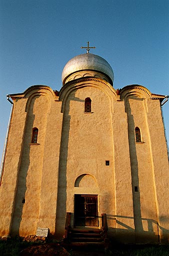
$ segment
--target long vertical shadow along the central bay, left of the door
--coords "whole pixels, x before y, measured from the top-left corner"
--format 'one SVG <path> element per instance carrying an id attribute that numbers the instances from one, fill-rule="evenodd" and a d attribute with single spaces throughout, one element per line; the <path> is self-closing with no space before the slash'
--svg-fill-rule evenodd
<path id="1" fill-rule="evenodd" d="M 63 110 L 63 120 L 62 120 L 62 131 L 61 131 L 61 142 L 60 142 L 60 154 L 59 154 L 59 177 L 58 177 L 58 193 L 57 193 L 57 209 L 56 209 L 56 236 L 62 235 L 65 225 L 66 216 L 66 173 L 67 173 L 67 157 L 68 157 L 68 141 L 69 141 L 69 131 L 70 131 L 70 101 L 80 101 L 84 102 L 77 97 L 75 97 L 76 89 L 71 91 L 71 95 L 66 98 Z M 62 102 L 63 104 L 63 102 Z M 63 109 L 63 107 L 62 107 Z M 76 147 L 76 145 L 74 145 Z"/>

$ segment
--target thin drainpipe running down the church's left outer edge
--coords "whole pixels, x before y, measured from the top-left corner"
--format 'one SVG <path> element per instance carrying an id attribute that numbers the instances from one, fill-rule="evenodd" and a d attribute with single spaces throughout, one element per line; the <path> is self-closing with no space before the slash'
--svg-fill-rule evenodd
<path id="1" fill-rule="evenodd" d="M 5 138 L 2 161 L 1 161 L 1 166 L 0 166 L 0 185 L 1 185 L 3 167 L 4 167 L 4 158 L 5 158 L 5 154 L 6 154 L 7 141 L 8 141 L 8 136 L 9 136 L 9 127 L 10 127 L 11 115 L 12 115 L 12 110 L 13 110 L 13 101 L 11 101 L 10 95 L 6 95 L 6 97 L 7 97 L 7 100 L 11 103 L 11 110 L 10 110 L 10 116 L 9 116 L 9 121 L 8 121 L 8 125 L 7 125 L 6 138 Z"/>

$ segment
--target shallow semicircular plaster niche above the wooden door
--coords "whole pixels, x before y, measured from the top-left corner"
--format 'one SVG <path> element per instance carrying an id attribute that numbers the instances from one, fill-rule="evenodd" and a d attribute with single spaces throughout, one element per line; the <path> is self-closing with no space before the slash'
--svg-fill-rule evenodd
<path id="1" fill-rule="evenodd" d="M 74 182 L 76 188 L 97 188 L 97 182 L 90 174 L 82 174 L 78 176 Z"/>

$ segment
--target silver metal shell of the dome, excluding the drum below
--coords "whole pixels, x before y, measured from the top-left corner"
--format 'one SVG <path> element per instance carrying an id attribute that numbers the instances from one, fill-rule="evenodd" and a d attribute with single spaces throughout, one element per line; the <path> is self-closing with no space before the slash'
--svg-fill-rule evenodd
<path id="1" fill-rule="evenodd" d="M 98 55 L 85 53 L 73 57 L 66 63 L 61 75 L 62 83 L 64 84 L 64 81 L 69 75 L 80 70 L 100 71 L 108 76 L 112 82 L 114 79 L 112 68 L 106 60 Z"/>

